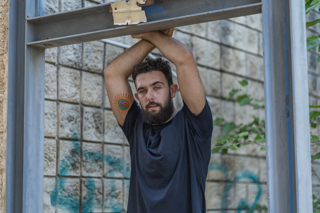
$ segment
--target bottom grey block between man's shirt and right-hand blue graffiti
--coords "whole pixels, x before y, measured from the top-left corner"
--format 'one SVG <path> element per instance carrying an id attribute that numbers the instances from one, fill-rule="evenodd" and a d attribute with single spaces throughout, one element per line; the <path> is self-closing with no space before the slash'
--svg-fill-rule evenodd
<path id="1" fill-rule="evenodd" d="M 206 182 L 205 200 L 207 209 L 220 209 L 223 200 L 223 183 Z"/>

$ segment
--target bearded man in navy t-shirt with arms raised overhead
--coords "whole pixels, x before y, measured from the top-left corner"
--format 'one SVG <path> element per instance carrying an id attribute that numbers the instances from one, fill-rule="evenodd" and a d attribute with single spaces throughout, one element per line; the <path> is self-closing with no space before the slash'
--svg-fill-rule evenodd
<path id="1" fill-rule="evenodd" d="M 173 30 L 132 35 L 142 40 L 104 70 L 111 108 L 130 144 L 127 213 L 206 211 L 212 114 L 194 57 L 171 37 Z M 178 86 L 172 83 L 169 64 L 162 59 L 141 63 L 155 47 L 177 68 L 184 102 L 180 111 L 172 102 Z M 131 74 L 141 108 L 128 82 Z"/>

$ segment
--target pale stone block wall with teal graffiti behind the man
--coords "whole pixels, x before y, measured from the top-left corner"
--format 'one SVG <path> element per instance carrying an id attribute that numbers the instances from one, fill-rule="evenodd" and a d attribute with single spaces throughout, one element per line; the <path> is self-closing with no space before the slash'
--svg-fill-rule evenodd
<path id="1" fill-rule="evenodd" d="M 48 0 L 46 12 L 103 2 Z M 260 14 L 176 28 L 173 37 L 186 44 L 196 59 L 213 118 L 238 124 L 252 121 L 252 116 L 264 119 L 263 109 L 240 107 L 226 99 L 231 89 L 242 88 L 238 81 L 244 79 L 249 85 L 243 93 L 264 98 L 261 31 Z M 112 40 L 128 45 L 139 41 L 131 36 Z M 103 80 L 103 68 L 123 51 L 101 41 L 46 49 L 44 212 L 126 212 L 129 145 L 113 117 Z M 152 53 L 161 56 L 157 49 Z M 308 53 L 310 103 L 320 104 L 315 54 Z M 182 107 L 179 95 L 174 104 Z M 221 135 L 221 128 L 214 127 L 212 135 L 213 139 Z M 244 146 L 241 151 L 212 155 L 206 202 L 208 213 L 267 205 L 265 152 Z"/>

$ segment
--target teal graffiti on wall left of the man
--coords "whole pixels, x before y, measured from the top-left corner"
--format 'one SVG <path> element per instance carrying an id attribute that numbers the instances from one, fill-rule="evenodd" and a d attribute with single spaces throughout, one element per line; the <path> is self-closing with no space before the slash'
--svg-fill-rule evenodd
<path id="1" fill-rule="evenodd" d="M 69 176 L 70 171 L 76 167 L 77 159 L 80 157 L 81 147 L 80 143 L 76 141 L 70 141 L 73 143 L 73 148 L 70 150 L 69 155 L 64 156 L 60 160 L 60 175 Z M 90 159 L 91 162 L 98 163 L 102 159 L 105 160 L 108 167 L 111 167 L 112 170 L 109 171 L 108 176 L 113 176 L 115 171 L 122 172 L 125 169 L 125 175 L 128 177 L 130 175 L 130 164 L 123 162 L 122 159 L 115 158 L 112 156 L 105 155 L 98 152 L 89 152 L 83 150 L 84 158 Z M 66 190 L 66 185 L 68 184 L 69 178 L 58 177 L 58 187 L 54 186 L 53 191 L 50 196 L 50 201 L 52 206 L 58 205 L 60 209 L 68 211 L 70 213 L 80 212 L 80 196 L 72 190 Z M 81 201 L 82 212 L 92 212 L 95 206 L 94 194 L 96 190 L 95 182 L 93 179 L 86 179 L 85 186 L 86 196 Z M 108 201 L 109 208 L 112 212 L 122 212 L 123 206 L 121 203 L 116 201 L 116 182 L 111 180 L 110 182 L 110 197 Z M 57 194 L 57 192 L 59 192 Z M 57 200 L 58 197 L 58 200 Z"/>

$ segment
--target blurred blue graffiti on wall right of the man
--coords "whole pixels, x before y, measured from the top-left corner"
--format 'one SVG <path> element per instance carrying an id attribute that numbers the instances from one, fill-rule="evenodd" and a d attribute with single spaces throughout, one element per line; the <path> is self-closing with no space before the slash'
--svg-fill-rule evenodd
<path id="1" fill-rule="evenodd" d="M 224 188 L 223 188 L 223 194 L 222 194 L 222 200 L 221 200 L 221 213 L 226 213 L 227 212 L 227 206 L 228 206 L 228 196 L 230 193 L 230 190 L 233 186 L 236 185 L 237 182 L 239 182 L 242 179 L 249 179 L 252 181 L 252 183 L 255 183 L 257 186 L 257 193 L 255 196 L 255 200 L 254 202 L 250 205 L 249 202 L 242 198 L 238 204 L 237 204 L 237 213 L 241 213 L 242 211 L 246 212 L 246 213 L 253 213 L 254 212 L 254 208 L 255 206 L 258 204 L 259 199 L 261 197 L 261 193 L 262 193 L 262 187 L 259 184 L 259 178 L 257 177 L 256 174 L 254 174 L 251 171 L 248 170 L 239 170 L 236 172 L 235 177 L 233 177 L 232 179 L 230 179 L 229 176 L 229 171 L 228 171 L 228 167 L 220 164 L 220 163 L 210 163 L 209 164 L 209 170 L 218 170 L 221 171 L 225 174 L 225 180 L 226 181 L 230 181 L 230 182 L 226 182 L 224 184 Z"/>

